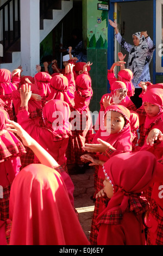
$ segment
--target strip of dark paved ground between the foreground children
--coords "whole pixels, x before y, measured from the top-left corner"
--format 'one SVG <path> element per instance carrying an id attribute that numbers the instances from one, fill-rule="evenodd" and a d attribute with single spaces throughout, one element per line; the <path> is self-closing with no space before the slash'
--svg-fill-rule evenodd
<path id="1" fill-rule="evenodd" d="M 90 199 L 95 192 L 94 169 L 87 169 L 84 174 L 70 175 L 74 184 L 74 206 L 79 213 L 79 221 L 87 236 L 90 237 L 91 220 L 95 203 Z"/>

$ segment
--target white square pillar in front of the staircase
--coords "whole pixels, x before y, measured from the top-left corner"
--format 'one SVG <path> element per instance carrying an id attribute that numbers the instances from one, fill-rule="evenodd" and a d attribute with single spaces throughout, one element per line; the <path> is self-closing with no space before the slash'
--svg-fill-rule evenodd
<path id="1" fill-rule="evenodd" d="M 34 76 L 40 64 L 40 0 L 21 0 L 21 65 Z"/>

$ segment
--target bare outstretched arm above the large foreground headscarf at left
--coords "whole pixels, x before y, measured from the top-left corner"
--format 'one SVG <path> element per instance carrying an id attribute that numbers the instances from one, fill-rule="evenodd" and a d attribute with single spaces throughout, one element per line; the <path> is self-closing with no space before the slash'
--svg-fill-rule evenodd
<path id="1" fill-rule="evenodd" d="M 18 137 L 22 139 L 24 146 L 30 148 L 42 164 L 45 164 L 51 168 L 54 166 L 59 166 L 53 157 L 45 149 L 43 149 L 41 145 L 35 141 L 35 139 L 30 137 L 30 135 L 21 127 L 21 125 L 8 119 L 7 127 L 8 131 L 16 133 Z"/>

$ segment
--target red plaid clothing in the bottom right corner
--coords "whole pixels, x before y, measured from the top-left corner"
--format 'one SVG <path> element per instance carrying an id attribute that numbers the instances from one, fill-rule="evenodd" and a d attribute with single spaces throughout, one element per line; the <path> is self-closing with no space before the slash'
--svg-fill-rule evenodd
<path id="1" fill-rule="evenodd" d="M 163 245 L 163 217 L 159 215 L 158 205 L 156 205 L 154 199 L 151 200 L 151 215 L 158 222 L 158 227 L 155 230 L 156 234 L 154 234 L 154 237 L 156 237 L 154 245 Z M 149 228 L 147 231 L 147 245 L 153 245 L 151 237 L 153 237 L 153 233 Z"/>

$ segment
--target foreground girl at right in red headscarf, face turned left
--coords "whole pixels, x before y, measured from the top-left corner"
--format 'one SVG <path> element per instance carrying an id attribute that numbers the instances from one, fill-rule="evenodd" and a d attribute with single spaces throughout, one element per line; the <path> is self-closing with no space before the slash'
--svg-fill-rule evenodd
<path id="1" fill-rule="evenodd" d="M 103 172 L 110 200 L 96 220 L 97 244 L 146 245 L 143 219 L 149 204 L 142 192 L 155 178 L 155 156 L 146 151 L 119 154 L 103 164 Z"/>

